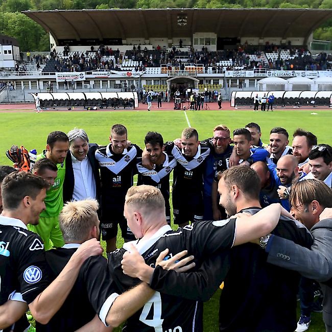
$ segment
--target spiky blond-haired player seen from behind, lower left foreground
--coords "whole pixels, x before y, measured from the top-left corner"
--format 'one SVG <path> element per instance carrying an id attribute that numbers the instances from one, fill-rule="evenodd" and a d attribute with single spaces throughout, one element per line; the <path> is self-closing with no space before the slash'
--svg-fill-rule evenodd
<path id="1" fill-rule="evenodd" d="M 98 207 L 97 200 L 93 199 L 64 205 L 59 225 L 65 245 L 46 253 L 51 280 L 57 277 L 84 241 L 99 238 Z M 96 256 L 82 265 L 72 291 L 51 321 L 46 325 L 37 323 L 36 327 L 41 332 L 74 331 L 83 326 L 86 331 L 110 331 L 112 326 L 120 325 L 134 314 L 152 294 L 148 285 L 141 283 L 119 296 L 108 274 L 107 260 Z"/>

